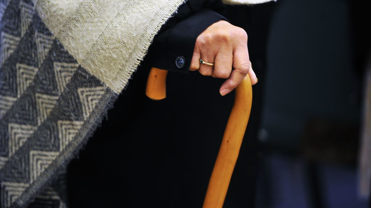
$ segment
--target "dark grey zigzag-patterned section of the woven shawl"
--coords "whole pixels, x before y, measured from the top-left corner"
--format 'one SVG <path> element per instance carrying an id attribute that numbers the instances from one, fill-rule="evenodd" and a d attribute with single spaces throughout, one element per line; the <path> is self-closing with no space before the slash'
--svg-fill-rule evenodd
<path id="1" fill-rule="evenodd" d="M 1 1 L 0 17 L 0 206 L 66 207 L 63 165 L 117 94 L 52 37 L 32 1 Z"/>

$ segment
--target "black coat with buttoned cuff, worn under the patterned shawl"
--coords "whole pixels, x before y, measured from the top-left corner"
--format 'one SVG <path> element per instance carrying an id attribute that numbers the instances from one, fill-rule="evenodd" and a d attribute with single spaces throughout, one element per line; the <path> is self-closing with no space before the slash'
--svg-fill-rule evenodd
<path id="1" fill-rule="evenodd" d="M 107 119 L 71 161 L 70 207 L 202 207 L 234 95 L 220 96 L 223 79 L 183 73 L 188 73 L 197 36 L 226 20 L 225 12 L 220 0 L 188 0 L 161 28 Z M 265 48 L 262 41 L 257 44 Z M 185 58 L 185 67 L 176 66 L 178 56 Z M 165 100 L 145 96 L 152 66 L 182 72 L 168 74 Z M 260 95 L 254 99 L 252 130 L 243 142 L 225 207 L 252 207 L 255 198 Z"/>

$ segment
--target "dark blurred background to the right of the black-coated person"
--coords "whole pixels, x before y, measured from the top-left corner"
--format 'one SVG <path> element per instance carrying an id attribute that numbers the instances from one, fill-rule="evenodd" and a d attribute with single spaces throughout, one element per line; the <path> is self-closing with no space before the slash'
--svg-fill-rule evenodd
<path id="1" fill-rule="evenodd" d="M 370 7 L 269 4 L 256 207 L 369 207 L 357 165 Z"/>

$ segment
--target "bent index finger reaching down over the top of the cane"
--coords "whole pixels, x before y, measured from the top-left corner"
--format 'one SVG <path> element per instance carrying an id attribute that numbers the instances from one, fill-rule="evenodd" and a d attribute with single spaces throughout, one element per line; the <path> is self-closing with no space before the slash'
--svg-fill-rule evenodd
<path id="1" fill-rule="evenodd" d="M 249 61 L 249 53 L 247 51 L 247 44 L 241 45 L 234 50 L 233 53 L 233 70 L 230 77 L 224 81 L 224 83 L 220 87 L 220 94 L 222 96 L 226 95 L 230 91 L 239 85 L 243 78 L 249 73 L 250 69 L 250 61 Z M 255 76 L 255 73 L 252 74 Z M 251 77 L 250 77 L 251 78 Z M 256 80 L 256 76 L 255 76 Z"/>

